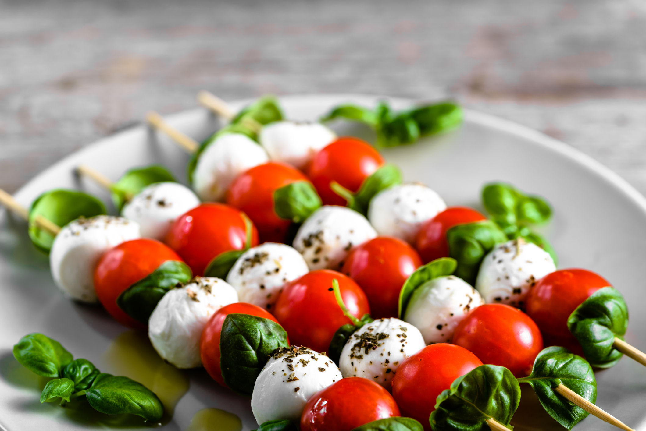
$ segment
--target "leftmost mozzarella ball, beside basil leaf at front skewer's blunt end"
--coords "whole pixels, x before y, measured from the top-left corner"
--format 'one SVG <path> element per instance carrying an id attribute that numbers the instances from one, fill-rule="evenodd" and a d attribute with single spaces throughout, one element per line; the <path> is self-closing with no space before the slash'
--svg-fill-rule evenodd
<path id="1" fill-rule="evenodd" d="M 110 248 L 140 237 L 139 225 L 123 217 L 76 219 L 58 233 L 49 255 L 54 283 L 74 299 L 96 302 L 94 268 Z"/>

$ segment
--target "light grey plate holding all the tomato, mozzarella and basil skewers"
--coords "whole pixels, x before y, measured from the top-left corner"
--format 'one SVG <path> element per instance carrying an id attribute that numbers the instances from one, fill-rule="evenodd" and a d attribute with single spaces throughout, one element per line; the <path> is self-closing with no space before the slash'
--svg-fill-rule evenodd
<path id="1" fill-rule="evenodd" d="M 646 425 L 625 181 L 453 103 L 198 101 L 0 194 L 0 427 Z"/>

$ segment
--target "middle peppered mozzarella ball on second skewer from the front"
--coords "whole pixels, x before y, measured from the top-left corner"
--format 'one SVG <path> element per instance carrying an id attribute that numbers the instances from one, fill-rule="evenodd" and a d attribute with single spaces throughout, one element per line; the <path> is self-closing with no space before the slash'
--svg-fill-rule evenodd
<path id="1" fill-rule="evenodd" d="M 283 285 L 307 272 L 307 263 L 297 250 L 285 244 L 264 243 L 238 257 L 227 283 L 238 292 L 240 302 L 270 310 Z"/>

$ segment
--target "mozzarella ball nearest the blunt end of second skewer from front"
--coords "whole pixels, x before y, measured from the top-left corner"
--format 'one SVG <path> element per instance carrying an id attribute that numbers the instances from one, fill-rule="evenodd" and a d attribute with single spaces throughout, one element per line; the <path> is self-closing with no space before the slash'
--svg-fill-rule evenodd
<path id="1" fill-rule="evenodd" d="M 121 216 L 139 223 L 142 237 L 163 241 L 175 219 L 198 205 L 200 199 L 187 186 L 155 183 L 123 206 Z"/>

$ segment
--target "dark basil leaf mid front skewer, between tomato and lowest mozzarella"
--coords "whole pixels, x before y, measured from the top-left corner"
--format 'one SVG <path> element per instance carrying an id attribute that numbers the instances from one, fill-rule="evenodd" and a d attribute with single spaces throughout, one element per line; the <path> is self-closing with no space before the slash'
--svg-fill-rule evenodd
<path id="1" fill-rule="evenodd" d="M 229 314 L 220 335 L 224 383 L 239 394 L 251 396 L 267 357 L 279 347 L 289 344 L 287 332 L 278 323 L 249 314 Z"/>

